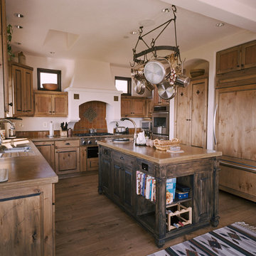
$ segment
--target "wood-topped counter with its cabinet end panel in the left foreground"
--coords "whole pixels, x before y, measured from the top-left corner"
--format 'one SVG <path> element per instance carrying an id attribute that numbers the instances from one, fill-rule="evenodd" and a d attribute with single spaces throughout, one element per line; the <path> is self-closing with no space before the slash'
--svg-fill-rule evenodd
<path id="1" fill-rule="evenodd" d="M 0 154 L 0 255 L 55 255 L 54 183 L 58 176 L 29 139 L 4 141 Z M 26 148 L 28 150 L 21 151 Z"/>

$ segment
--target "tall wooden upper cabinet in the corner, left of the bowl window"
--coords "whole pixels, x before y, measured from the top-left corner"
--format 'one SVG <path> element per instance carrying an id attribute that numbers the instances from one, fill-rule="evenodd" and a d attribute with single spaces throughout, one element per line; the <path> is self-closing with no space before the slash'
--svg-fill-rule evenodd
<path id="1" fill-rule="evenodd" d="M 33 116 L 33 68 L 10 62 L 9 83 L 13 116 Z"/>

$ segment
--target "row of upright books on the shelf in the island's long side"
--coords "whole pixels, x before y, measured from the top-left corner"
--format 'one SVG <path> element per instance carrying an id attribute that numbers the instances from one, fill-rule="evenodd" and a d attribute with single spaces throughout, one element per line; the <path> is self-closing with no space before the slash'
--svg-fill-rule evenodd
<path id="1" fill-rule="evenodd" d="M 156 201 L 156 179 L 137 171 L 137 195 L 144 196 L 150 201 Z"/>

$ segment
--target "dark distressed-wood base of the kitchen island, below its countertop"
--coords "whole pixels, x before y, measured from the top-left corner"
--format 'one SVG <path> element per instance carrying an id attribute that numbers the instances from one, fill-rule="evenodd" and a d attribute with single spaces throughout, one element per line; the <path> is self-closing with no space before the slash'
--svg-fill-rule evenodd
<path id="1" fill-rule="evenodd" d="M 186 235 L 210 224 L 218 225 L 217 157 L 159 164 L 102 144 L 105 142 L 100 142 L 99 193 L 105 193 L 154 235 L 158 247 L 162 247 L 166 240 Z M 186 150 L 191 148 L 193 147 L 186 147 Z M 146 184 L 150 184 L 152 178 L 156 184 L 155 199 L 154 196 L 146 199 Z M 176 178 L 176 183 L 190 188 L 188 198 L 166 204 L 166 183 L 169 178 Z M 142 191 L 145 191 L 143 195 Z M 167 211 L 177 203 L 181 203 L 183 209 L 188 209 L 186 213 L 181 210 L 176 214 L 181 215 L 186 222 L 184 227 L 178 229 L 171 223 L 168 226 Z"/>

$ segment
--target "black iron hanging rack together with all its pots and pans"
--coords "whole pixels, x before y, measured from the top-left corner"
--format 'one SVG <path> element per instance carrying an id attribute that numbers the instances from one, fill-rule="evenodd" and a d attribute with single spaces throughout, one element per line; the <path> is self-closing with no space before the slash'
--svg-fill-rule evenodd
<path id="1" fill-rule="evenodd" d="M 145 88 L 151 91 L 154 90 L 154 85 L 156 85 L 159 96 L 164 100 L 170 100 L 175 97 L 176 88 L 178 86 L 186 87 L 190 82 L 190 78 L 183 75 L 183 63 L 181 61 L 181 55 L 177 44 L 176 6 L 172 5 L 171 10 L 174 18 L 170 18 L 168 21 L 162 23 L 151 31 L 142 34 L 143 26 L 139 27 L 139 37 L 135 47 L 132 49 L 133 64 L 130 63 L 132 67 L 132 79 L 136 84 L 136 92 L 138 94 L 143 94 Z M 155 46 L 156 40 L 172 21 L 174 23 L 175 46 Z M 144 40 L 144 37 L 159 28 L 162 28 L 161 31 L 156 38 L 152 39 L 149 46 Z M 140 41 L 144 43 L 146 50 L 136 53 L 136 49 Z M 171 53 L 165 57 L 160 57 L 157 54 L 159 50 L 169 50 Z M 147 58 L 149 53 L 153 53 L 154 58 L 151 60 Z M 140 58 L 142 56 L 143 58 Z M 136 75 L 137 73 L 139 76 Z"/>

